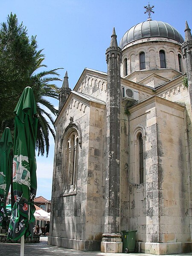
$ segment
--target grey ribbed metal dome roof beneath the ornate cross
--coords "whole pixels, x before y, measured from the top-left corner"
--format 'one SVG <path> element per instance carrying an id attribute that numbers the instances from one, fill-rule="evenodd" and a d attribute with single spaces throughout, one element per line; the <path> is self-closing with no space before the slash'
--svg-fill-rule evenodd
<path id="1" fill-rule="evenodd" d="M 119 47 L 123 48 L 125 45 L 135 40 L 152 37 L 169 38 L 181 44 L 184 42 L 182 35 L 180 35 L 177 29 L 168 23 L 157 20 L 147 20 L 129 29 L 122 37 Z"/>

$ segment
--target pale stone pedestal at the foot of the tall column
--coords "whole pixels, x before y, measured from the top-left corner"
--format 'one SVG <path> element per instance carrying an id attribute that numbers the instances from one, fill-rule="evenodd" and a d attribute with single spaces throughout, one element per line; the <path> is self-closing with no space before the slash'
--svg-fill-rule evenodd
<path id="1" fill-rule="evenodd" d="M 122 253 L 122 240 L 120 233 L 104 233 L 102 236 L 102 253 Z"/>

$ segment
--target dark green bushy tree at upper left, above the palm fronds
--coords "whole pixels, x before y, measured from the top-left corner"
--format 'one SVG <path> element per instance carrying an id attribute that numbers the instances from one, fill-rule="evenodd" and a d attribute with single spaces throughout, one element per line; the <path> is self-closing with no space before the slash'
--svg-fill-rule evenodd
<path id="1" fill-rule="evenodd" d="M 13 117 L 13 110 L 34 65 L 35 38 L 29 42 L 26 28 L 16 15 L 8 16 L 0 30 L 0 122 Z"/>

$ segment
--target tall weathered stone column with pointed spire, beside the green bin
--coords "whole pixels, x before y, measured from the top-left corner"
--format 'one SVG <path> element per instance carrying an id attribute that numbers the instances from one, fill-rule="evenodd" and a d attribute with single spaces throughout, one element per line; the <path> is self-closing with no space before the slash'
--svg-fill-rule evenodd
<path id="1" fill-rule="evenodd" d="M 105 233 L 101 252 L 121 253 L 122 240 L 120 226 L 120 62 L 121 49 L 117 45 L 115 29 L 111 35 L 111 45 L 106 50 L 108 64 L 107 85 L 107 159 L 105 182 Z"/>

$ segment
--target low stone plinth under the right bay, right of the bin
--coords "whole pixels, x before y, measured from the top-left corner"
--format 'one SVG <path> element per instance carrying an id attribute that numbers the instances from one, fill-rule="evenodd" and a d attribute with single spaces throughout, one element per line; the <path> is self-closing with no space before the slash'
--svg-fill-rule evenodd
<path id="1" fill-rule="evenodd" d="M 155 255 L 190 253 L 192 243 L 145 243 L 139 242 L 138 249 L 140 253 L 151 253 Z"/>

